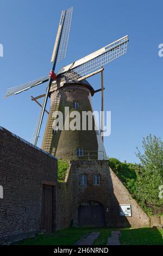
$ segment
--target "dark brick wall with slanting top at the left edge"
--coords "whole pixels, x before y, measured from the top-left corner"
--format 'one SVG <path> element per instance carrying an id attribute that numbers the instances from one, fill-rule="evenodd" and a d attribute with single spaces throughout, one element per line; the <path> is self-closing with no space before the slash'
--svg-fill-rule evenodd
<path id="1" fill-rule="evenodd" d="M 0 127 L 0 243 L 42 229 L 42 185 L 55 185 L 57 159 Z"/>

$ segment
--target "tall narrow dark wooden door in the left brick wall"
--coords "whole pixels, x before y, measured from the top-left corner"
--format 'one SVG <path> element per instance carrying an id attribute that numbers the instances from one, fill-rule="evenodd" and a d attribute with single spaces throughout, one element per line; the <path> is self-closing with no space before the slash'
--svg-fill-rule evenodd
<path id="1" fill-rule="evenodd" d="M 53 231 L 53 186 L 43 185 L 43 229 Z"/>

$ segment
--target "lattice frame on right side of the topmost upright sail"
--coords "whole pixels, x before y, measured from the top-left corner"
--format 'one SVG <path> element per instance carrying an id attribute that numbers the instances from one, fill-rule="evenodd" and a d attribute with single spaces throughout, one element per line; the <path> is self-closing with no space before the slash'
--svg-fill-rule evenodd
<path id="1" fill-rule="evenodd" d="M 60 43 L 59 43 L 57 62 L 59 62 L 60 60 L 66 57 L 68 37 L 70 34 L 70 27 L 71 27 L 72 11 L 73 11 L 73 7 L 65 11 L 66 13 L 65 13 L 65 19 L 64 19 L 64 24 L 62 28 Z"/>

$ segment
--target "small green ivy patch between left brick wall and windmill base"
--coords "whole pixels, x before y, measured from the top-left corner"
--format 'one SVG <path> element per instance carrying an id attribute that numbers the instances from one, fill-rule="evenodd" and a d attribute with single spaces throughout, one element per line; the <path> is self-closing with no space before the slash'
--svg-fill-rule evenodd
<path id="1" fill-rule="evenodd" d="M 68 166 L 69 166 L 69 160 L 65 160 L 65 159 L 58 160 L 58 181 L 60 182 L 65 181 L 65 176 L 67 173 Z"/>

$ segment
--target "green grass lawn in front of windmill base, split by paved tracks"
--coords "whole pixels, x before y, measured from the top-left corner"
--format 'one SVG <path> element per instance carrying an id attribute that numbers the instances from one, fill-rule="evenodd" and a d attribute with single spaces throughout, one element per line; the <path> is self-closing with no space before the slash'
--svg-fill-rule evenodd
<path id="1" fill-rule="evenodd" d="M 27 239 L 16 243 L 17 245 L 74 245 L 83 236 L 91 232 L 100 235 L 93 245 L 106 245 L 111 231 L 110 228 L 69 228 L 56 231 L 49 235 L 36 235 L 35 239 Z M 121 245 L 163 245 L 163 230 L 156 228 L 125 228 L 121 231 Z"/>

